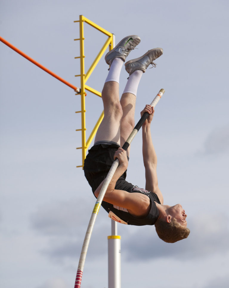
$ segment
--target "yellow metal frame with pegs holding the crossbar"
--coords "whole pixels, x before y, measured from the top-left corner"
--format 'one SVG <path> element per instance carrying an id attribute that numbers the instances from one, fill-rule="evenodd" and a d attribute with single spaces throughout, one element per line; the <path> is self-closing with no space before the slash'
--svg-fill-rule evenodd
<path id="1" fill-rule="evenodd" d="M 81 92 L 76 94 L 76 95 L 81 95 L 81 111 L 77 111 L 76 113 L 81 113 L 81 129 L 76 129 L 76 131 L 81 131 L 82 133 L 82 147 L 78 147 L 77 149 L 82 149 L 82 165 L 79 165 L 77 167 L 83 167 L 83 162 L 84 159 L 86 157 L 86 151 L 90 145 L 90 143 L 92 142 L 96 131 L 101 123 L 101 121 L 103 120 L 103 112 L 100 115 L 97 123 L 95 124 L 95 127 L 93 128 L 88 140 L 86 140 L 86 109 L 85 109 L 85 96 L 86 96 L 86 92 L 85 90 L 101 97 L 101 92 L 96 91 L 95 89 L 93 89 L 92 87 L 89 87 L 86 85 L 86 81 L 89 79 L 89 77 L 91 76 L 93 70 L 95 69 L 96 65 L 98 64 L 99 60 L 101 59 L 101 57 L 103 56 L 104 52 L 106 51 L 107 47 L 109 46 L 109 50 L 113 49 L 113 37 L 114 35 L 108 31 L 106 31 L 105 29 L 103 29 L 102 27 L 98 26 L 97 24 L 93 23 L 92 21 L 90 21 L 89 19 L 85 18 L 83 15 L 80 15 L 80 20 L 79 21 L 74 21 L 74 22 L 79 22 L 80 24 L 80 38 L 79 39 L 74 39 L 74 40 L 79 40 L 80 41 L 80 57 L 75 57 L 75 58 L 80 58 L 80 75 L 75 75 L 75 77 L 81 76 Z M 107 35 L 108 38 L 106 40 L 106 42 L 104 43 L 103 47 L 101 48 L 100 52 L 98 53 L 98 55 L 96 56 L 95 60 L 93 61 L 92 65 L 90 66 L 90 68 L 88 69 L 87 73 L 85 74 L 84 71 L 84 33 L 83 33 L 83 22 L 91 25 L 92 27 L 94 27 L 95 29 L 99 30 L 100 32 L 102 32 L 103 34 Z"/>

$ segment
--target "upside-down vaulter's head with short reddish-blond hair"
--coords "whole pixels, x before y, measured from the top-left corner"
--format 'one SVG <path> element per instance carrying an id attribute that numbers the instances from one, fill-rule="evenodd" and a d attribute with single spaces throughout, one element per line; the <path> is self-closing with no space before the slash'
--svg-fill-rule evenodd
<path id="1" fill-rule="evenodd" d="M 188 237 L 190 230 L 187 228 L 185 210 L 180 204 L 168 206 L 166 219 L 158 219 L 154 224 L 157 235 L 168 243 L 174 243 Z"/>

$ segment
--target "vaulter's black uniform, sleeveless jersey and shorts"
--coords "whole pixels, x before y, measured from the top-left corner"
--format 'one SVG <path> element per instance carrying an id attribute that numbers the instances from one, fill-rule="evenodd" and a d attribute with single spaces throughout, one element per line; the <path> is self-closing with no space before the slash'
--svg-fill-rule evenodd
<path id="1" fill-rule="evenodd" d="M 111 165 L 114 162 L 115 151 L 120 147 L 117 144 L 98 144 L 94 145 L 88 152 L 86 159 L 84 160 L 84 174 L 86 176 L 89 185 L 92 187 L 93 193 L 98 188 L 100 183 L 106 178 Z M 159 212 L 154 201 L 160 203 L 157 194 L 147 191 L 142 188 L 138 188 L 135 185 L 126 181 L 126 171 L 117 180 L 115 189 L 124 190 L 129 193 L 138 192 L 143 193 L 150 199 L 151 209 L 148 216 L 145 218 L 136 218 L 131 216 L 127 209 L 114 206 L 113 204 L 102 202 L 103 208 L 109 213 L 109 217 L 113 220 L 129 224 L 129 225 L 154 225 L 159 217 Z"/>

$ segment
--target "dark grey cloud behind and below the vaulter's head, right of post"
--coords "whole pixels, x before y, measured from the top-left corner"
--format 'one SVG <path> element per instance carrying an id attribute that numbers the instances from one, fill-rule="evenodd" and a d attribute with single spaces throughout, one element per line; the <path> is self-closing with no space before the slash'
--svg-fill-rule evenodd
<path id="1" fill-rule="evenodd" d="M 176 243 L 165 243 L 157 237 L 154 228 L 143 233 L 135 232 L 131 239 L 122 243 L 124 257 L 128 261 L 146 261 L 152 258 L 190 260 L 208 257 L 228 251 L 228 219 L 224 215 L 202 215 L 189 221 L 191 230 L 187 239 Z M 149 229 L 151 230 L 149 232 Z"/>

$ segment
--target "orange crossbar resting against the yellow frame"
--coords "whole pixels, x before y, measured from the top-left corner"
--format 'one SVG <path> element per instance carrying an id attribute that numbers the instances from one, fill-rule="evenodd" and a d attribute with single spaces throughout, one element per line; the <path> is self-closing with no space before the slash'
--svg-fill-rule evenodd
<path id="1" fill-rule="evenodd" d="M 60 80 L 61 82 L 63 82 L 64 84 L 66 84 L 67 86 L 69 86 L 70 88 L 74 89 L 75 92 L 80 92 L 80 88 L 75 87 L 74 85 L 72 85 L 71 83 L 67 82 L 66 80 L 62 79 L 60 76 L 56 75 L 55 73 L 53 73 L 52 71 L 50 71 L 49 69 L 45 68 L 43 65 L 41 65 L 40 63 L 38 63 L 37 61 L 33 60 L 31 57 L 29 57 L 28 55 L 26 55 L 24 52 L 22 52 L 21 50 L 19 50 L 18 48 L 14 47 L 12 44 L 10 44 L 8 41 L 6 41 L 5 39 L 3 39 L 0 36 L 0 41 L 3 42 L 4 44 L 6 44 L 8 47 L 10 47 L 11 49 L 13 49 L 14 51 L 16 51 L 18 54 L 20 54 L 21 56 L 23 56 L 24 58 L 26 58 L 27 60 L 29 60 L 30 62 L 32 62 L 33 64 L 35 64 L 36 66 L 38 66 L 39 68 L 43 69 L 45 72 L 49 73 L 50 75 L 52 75 L 53 77 L 55 77 L 56 79 Z"/>

